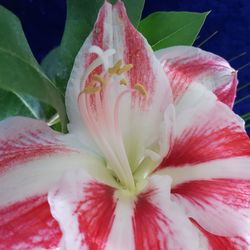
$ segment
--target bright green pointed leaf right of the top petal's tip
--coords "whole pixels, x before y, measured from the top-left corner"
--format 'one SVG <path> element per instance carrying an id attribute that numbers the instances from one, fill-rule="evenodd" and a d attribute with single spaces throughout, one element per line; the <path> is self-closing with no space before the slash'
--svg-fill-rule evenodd
<path id="1" fill-rule="evenodd" d="M 139 31 L 154 50 L 193 45 L 209 12 L 155 12 L 140 22 Z"/>

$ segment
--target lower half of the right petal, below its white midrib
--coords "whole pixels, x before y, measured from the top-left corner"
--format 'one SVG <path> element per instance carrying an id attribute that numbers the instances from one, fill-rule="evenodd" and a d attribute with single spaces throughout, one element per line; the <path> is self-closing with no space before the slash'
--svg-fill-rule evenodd
<path id="1" fill-rule="evenodd" d="M 208 232 L 248 240 L 249 179 L 196 180 L 172 188 L 172 198 Z"/>

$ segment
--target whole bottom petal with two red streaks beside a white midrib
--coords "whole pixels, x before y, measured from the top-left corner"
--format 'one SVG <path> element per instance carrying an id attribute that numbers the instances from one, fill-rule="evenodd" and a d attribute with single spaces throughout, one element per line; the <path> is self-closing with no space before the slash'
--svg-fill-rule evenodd
<path id="1" fill-rule="evenodd" d="M 67 173 L 49 195 L 63 232 L 61 247 L 193 250 L 199 244 L 207 246 L 185 214 L 170 202 L 169 188 L 168 177 L 154 176 L 149 187 L 134 197 L 83 171 Z"/>

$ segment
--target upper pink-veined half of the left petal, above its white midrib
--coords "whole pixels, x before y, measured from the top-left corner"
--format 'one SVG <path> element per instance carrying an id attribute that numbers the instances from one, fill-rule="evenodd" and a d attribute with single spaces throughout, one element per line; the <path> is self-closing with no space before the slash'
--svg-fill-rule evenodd
<path id="1" fill-rule="evenodd" d="M 44 122 L 17 117 L 0 123 L 0 174 L 13 164 L 68 151 Z"/>

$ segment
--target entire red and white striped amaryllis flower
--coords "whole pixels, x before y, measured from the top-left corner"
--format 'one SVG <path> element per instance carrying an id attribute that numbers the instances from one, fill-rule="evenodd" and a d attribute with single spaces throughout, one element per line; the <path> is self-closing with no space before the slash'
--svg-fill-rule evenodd
<path id="1" fill-rule="evenodd" d="M 0 249 L 249 249 L 236 85 L 202 50 L 155 56 L 105 2 L 68 83 L 69 133 L 0 123 Z"/>

